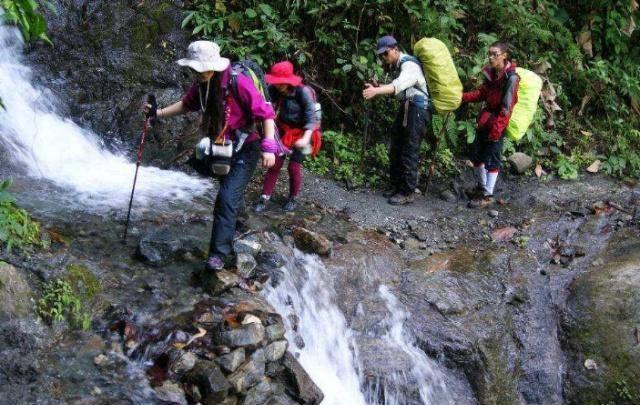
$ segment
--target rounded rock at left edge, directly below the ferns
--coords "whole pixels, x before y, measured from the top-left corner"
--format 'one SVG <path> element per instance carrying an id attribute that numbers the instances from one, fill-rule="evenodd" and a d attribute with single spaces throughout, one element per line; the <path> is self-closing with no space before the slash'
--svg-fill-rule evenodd
<path id="1" fill-rule="evenodd" d="M 26 278 L 12 265 L 0 261 L 0 318 L 28 316 L 32 298 Z"/>

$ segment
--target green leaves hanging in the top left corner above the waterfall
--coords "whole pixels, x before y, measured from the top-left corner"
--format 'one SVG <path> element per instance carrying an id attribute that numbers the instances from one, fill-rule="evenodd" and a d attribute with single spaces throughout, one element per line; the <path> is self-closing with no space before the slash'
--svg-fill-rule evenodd
<path id="1" fill-rule="evenodd" d="M 53 45 L 47 36 L 47 21 L 40 13 L 40 7 L 49 7 L 55 12 L 53 3 L 48 0 L 0 0 L 4 9 L 2 18 L 5 22 L 20 28 L 25 41 L 43 40 Z"/>

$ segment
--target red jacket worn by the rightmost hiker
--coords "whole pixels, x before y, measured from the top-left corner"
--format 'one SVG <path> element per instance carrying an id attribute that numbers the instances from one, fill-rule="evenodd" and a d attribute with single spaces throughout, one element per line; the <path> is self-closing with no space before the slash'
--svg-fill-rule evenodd
<path id="1" fill-rule="evenodd" d="M 507 62 L 497 75 L 493 68 L 482 69 L 484 83 L 473 91 L 462 95 L 462 101 L 473 103 L 484 101 L 485 105 L 476 120 L 476 127 L 489 131 L 492 141 L 499 141 L 509 125 L 513 106 L 518 102 L 520 78 L 516 74 L 515 63 Z"/>

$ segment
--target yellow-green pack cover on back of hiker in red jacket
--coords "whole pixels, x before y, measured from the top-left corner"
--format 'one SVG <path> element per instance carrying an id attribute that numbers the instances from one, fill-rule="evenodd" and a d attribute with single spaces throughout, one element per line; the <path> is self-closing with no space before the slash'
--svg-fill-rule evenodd
<path id="1" fill-rule="evenodd" d="M 520 77 L 518 102 L 513 107 L 511 119 L 509 119 L 507 136 L 514 141 L 519 141 L 527 132 L 538 108 L 542 79 L 532 71 L 520 67 L 516 67 L 516 74 Z"/>

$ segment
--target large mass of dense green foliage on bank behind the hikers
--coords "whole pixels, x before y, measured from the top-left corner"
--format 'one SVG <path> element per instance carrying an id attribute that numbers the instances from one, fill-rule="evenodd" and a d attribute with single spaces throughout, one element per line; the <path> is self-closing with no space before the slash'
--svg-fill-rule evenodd
<path id="1" fill-rule="evenodd" d="M 284 58 L 292 60 L 307 83 L 318 89 L 326 128 L 344 128 L 344 133 L 361 139 L 367 127 L 369 143 L 382 146 L 388 143 L 386 128 L 397 105 L 391 98 L 365 103 L 361 96 L 370 78 L 381 83 L 392 79 L 374 54 L 379 36 L 391 33 L 407 50 L 424 36 L 443 40 L 465 89 L 480 84 L 479 72 L 487 63 L 489 45 L 505 40 L 519 66 L 547 67 L 542 74 L 554 86 L 555 101 L 563 110 L 554 114 L 555 125 L 549 125 L 552 121 L 540 107 L 526 136 L 518 143 L 507 142 L 506 152 L 528 153 L 545 168 L 561 170 L 563 178 L 575 178 L 584 169 L 586 156 L 600 157 L 606 173 L 638 177 L 640 47 L 632 44 L 640 43 L 640 32 L 632 28 L 640 19 L 640 10 L 632 8 L 633 4 L 604 0 L 192 0 L 183 26 L 194 36 L 216 40 L 223 53 L 236 58 L 251 57 L 265 67 Z M 589 41 L 581 43 L 577 38 Z M 589 46 L 591 53 L 585 51 Z M 456 112 L 441 139 L 443 150 L 455 156 L 465 153 L 475 138 L 474 118 L 479 108 L 475 105 Z M 442 125 L 442 117 L 436 116 L 436 133 Z M 326 173 L 334 152 L 326 151 L 310 167 Z M 354 179 L 368 179 L 358 171 L 357 156 L 339 157 L 343 167 L 331 170 L 341 176 L 354 171 Z M 369 156 L 366 167 L 376 161 Z"/>

